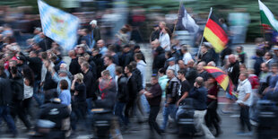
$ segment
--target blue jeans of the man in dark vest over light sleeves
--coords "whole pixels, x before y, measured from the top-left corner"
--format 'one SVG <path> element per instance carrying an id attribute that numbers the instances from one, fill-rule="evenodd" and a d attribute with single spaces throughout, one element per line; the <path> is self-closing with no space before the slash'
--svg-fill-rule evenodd
<path id="1" fill-rule="evenodd" d="M 176 119 L 177 110 L 178 110 L 178 108 L 175 104 L 169 104 L 168 107 L 164 106 L 164 108 L 163 108 L 163 124 L 161 127 L 162 130 L 166 129 L 169 116 Z"/>

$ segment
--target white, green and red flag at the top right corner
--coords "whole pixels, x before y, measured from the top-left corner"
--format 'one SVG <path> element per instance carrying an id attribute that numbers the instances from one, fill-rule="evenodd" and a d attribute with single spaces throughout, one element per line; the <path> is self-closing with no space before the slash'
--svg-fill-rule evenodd
<path id="1" fill-rule="evenodd" d="M 260 8 L 261 22 L 265 30 L 278 30 L 278 21 L 274 18 L 274 14 L 258 0 L 258 5 Z"/>

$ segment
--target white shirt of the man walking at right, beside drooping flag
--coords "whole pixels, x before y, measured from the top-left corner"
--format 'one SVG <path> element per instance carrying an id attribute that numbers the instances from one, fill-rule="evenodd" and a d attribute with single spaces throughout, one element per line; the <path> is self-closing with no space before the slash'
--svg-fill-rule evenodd
<path id="1" fill-rule="evenodd" d="M 248 100 L 243 101 L 245 96 L 249 93 L 251 95 L 252 93 L 252 86 L 251 83 L 248 81 L 248 79 L 245 79 L 244 81 L 239 81 L 238 86 L 239 96 L 238 96 L 238 103 L 243 103 L 244 105 L 250 106 L 251 105 L 251 99 L 250 97 Z"/>

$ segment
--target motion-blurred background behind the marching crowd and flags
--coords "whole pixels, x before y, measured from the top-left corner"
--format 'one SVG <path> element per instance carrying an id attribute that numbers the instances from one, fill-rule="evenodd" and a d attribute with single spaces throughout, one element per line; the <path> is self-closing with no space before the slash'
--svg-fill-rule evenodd
<path id="1" fill-rule="evenodd" d="M 179 7 L 178 0 L 46 0 L 46 3 L 78 16 L 82 27 L 89 28 L 89 22 L 97 20 L 105 39 L 113 38 L 123 25 L 130 24 L 136 42 L 148 42 L 152 26 L 161 21 L 173 30 Z M 277 3 L 273 0 L 263 3 L 278 15 L 274 10 Z M 254 42 L 263 37 L 257 0 L 184 0 L 183 4 L 201 30 L 213 7 L 213 12 L 230 27 L 229 35 L 238 34 L 233 43 Z M 0 1 L 0 24 L 4 23 L 21 33 L 31 33 L 40 26 L 37 0 Z M 273 34 L 272 30 L 266 30 L 265 38 L 274 38 L 267 33 Z"/>

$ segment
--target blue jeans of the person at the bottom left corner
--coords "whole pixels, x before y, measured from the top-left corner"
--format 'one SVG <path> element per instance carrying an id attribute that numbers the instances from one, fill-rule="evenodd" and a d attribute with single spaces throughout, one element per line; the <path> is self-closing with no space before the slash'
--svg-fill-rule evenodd
<path id="1" fill-rule="evenodd" d="M 4 119 L 13 134 L 16 134 L 13 117 L 10 115 L 10 108 L 8 106 L 0 106 L 0 117 Z"/>

